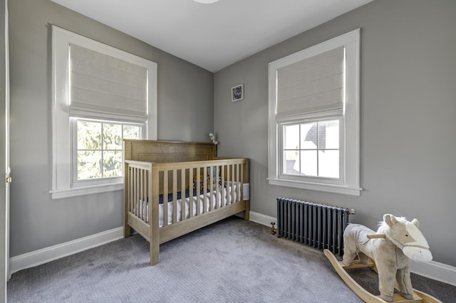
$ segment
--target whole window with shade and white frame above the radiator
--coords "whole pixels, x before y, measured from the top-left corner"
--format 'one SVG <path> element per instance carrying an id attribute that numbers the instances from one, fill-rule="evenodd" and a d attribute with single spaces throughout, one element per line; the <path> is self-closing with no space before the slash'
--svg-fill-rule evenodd
<path id="1" fill-rule="evenodd" d="M 359 30 L 269 63 L 269 184 L 359 196 Z"/>

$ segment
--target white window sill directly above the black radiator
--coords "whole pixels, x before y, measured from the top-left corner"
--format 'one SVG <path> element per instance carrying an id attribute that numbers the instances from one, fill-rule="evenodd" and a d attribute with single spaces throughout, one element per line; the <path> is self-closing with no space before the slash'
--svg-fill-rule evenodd
<path id="1" fill-rule="evenodd" d="M 309 189 L 311 191 L 324 191 L 326 193 L 340 193 L 348 196 L 360 196 L 363 188 L 338 186 L 333 184 L 318 184 L 304 181 L 284 180 L 284 179 L 268 179 L 269 184 L 276 186 L 285 186 L 301 189 Z"/>

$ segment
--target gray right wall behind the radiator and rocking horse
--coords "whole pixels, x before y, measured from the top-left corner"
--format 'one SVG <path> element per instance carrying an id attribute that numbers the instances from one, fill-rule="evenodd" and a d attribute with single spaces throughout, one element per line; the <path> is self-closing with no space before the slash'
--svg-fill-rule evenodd
<path id="1" fill-rule="evenodd" d="M 278 196 L 418 218 L 434 260 L 456 266 L 456 1 L 375 0 L 234 63 L 214 76 L 219 154 L 251 159 L 251 208 L 276 216 Z M 268 63 L 361 28 L 360 197 L 270 186 Z M 230 101 L 244 83 L 245 97 Z"/>

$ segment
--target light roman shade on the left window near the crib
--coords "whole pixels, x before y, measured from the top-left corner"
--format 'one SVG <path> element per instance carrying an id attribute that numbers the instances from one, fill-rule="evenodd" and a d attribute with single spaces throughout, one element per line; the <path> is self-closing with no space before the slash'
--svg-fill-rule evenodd
<path id="1" fill-rule="evenodd" d="M 147 68 L 70 44 L 70 105 L 73 117 L 147 120 Z"/>

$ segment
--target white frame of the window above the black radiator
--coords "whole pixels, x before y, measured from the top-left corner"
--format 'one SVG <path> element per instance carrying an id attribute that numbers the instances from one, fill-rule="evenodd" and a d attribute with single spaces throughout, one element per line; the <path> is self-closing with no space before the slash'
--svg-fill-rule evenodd
<path id="1" fill-rule="evenodd" d="M 334 48 L 345 47 L 345 94 L 341 127 L 341 159 L 342 171 L 340 179 L 321 177 L 309 178 L 281 174 L 282 163 L 282 128 L 284 123 L 306 121 L 324 121 L 338 117 L 331 112 L 319 112 L 301 117 L 286 117 L 278 119 L 277 113 L 277 70 L 306 58 L 311 58 Z M 360 196 L 360 29 L 348 32 L 331 40 L 319 43 L 269 63 L 269 169 L 268 181 L 271 185 L 293 188 L 341 193 Z M 340 114 L 338 114 L 340 115 Z"/>

